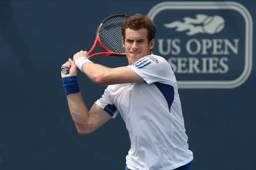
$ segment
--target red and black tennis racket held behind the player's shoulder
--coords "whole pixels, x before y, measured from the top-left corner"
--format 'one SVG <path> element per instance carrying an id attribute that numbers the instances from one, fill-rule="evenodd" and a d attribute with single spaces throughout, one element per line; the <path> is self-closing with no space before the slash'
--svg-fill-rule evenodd
<path id="1" fill-rule="evenodd" d="M 125 57 L 125 49 L 122 46 L 122 24 L 128 17 L 125 14 L 114 14 L 102 21 L 97 29 L 93 47 L 88 54 L 93 51 L 97 43 L 105 52 L 92 54 L 89 58 L 97 56 Z M 61 71 L 63 74 L 69 74 L 67 67 L 61 68 Z"/>

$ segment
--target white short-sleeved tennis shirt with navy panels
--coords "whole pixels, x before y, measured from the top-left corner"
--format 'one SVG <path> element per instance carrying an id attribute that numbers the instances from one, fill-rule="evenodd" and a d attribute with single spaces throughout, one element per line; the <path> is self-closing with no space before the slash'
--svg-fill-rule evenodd
<path id="1" fill-rule="evenodd" d="M 129 68 L 145 82 L 109 85 L 95 103 L 125 121 L 131 170 L 173 170 L 193 159 L 187 144 L 177 81 L 163 57 L 151 54 Z"/>

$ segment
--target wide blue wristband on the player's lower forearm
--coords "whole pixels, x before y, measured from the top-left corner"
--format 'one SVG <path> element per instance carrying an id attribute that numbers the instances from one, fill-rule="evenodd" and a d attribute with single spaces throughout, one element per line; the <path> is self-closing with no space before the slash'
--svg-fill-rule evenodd
<path id="1" fill-rule="evenodd" d="M 62 82 L 66 95 L 80 92 L 77 76 L 63 77 Z"/>

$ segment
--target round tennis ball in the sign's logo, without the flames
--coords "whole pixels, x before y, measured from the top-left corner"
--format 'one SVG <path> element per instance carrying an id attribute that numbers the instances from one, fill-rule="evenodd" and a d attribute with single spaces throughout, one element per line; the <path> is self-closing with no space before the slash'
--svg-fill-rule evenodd
<path id="1" fill-rule="evenodd" d="M 225 26 L 225 20 L 221 16 L 208 16 L 203 22 L 203 30 L 207 34 L 216 34 Z"/>

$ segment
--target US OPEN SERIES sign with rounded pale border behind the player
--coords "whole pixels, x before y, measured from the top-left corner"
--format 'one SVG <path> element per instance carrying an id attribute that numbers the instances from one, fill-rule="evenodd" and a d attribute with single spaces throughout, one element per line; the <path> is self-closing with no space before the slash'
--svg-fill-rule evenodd
<path id="1" fill-rule="evenodd" d="M 162 2 L 148 17 L 158 30 L 154 53 L 179 88 L 236 88 L 250 76 L 253 23 L 240 3 Z"/>

